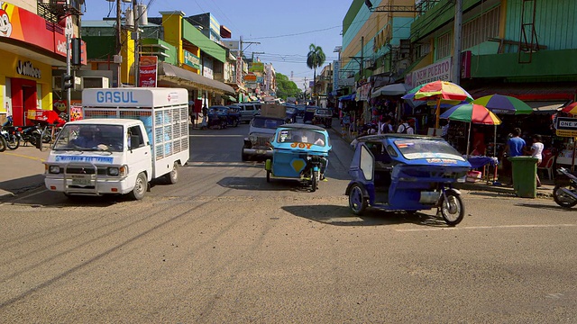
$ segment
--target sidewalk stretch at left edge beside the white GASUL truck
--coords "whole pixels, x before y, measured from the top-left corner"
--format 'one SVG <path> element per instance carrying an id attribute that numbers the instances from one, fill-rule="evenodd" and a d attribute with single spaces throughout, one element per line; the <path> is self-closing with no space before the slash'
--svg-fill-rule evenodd
<path id="1" fill-rule="evenodd" d="M 44 165 L 49 148 L 21 146 L 0 152 L 0 199 L 12 197 L 44 185 Z"/>

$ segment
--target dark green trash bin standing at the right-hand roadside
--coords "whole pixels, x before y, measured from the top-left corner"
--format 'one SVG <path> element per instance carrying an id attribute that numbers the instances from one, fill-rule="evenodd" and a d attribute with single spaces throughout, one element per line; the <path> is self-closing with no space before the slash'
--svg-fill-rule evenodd
<path id="1" fill-rule="evenodd" d="M 536 198 L 537 161 L 536 157 L 509 157 L 513 168 L 513 189 L 517 196 Z"/>

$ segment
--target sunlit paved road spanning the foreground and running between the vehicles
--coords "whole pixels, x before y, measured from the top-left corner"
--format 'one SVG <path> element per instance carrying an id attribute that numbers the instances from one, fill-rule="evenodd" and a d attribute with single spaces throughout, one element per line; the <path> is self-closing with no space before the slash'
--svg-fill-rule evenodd
<path id="1" fill-rule="evenodd" d="M 40 188 L 0 204 L 0 321 L 577 321 L 577 210 L 470 191 L 456 228 L 355 217 L 336 134 L 308 193 L 241 162 L 247 130 L 194 130 L 179 184 L 141 202 Z"/>

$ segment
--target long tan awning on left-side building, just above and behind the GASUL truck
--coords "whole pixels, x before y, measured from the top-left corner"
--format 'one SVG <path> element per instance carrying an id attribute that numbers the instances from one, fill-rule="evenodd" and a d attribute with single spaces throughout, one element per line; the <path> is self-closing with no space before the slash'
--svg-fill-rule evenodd
<path id="1" fill-rule="evenodd" d="M 160 81 L 168 80 L 175 85 L 186 86 L 187 82 L 190 82 L 200 89 L 234 94 L 234 89 L 230 85 L 225 85 L 220 81 L 201 76 L 182 67 L 175 67 L 166 62 L 159 62 L 159 78 Z"/>

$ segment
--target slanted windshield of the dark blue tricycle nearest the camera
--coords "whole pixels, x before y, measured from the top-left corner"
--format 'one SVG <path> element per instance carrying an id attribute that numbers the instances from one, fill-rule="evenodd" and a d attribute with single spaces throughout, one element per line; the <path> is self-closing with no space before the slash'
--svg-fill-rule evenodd
<path id="1" fill-rule="evenodd" d="M 417 158 L 452 158 L 464 161 L 461 154 L 449 143 L 438 139 L 395 139 L 395 146 L 403 157 L 407 159 Z"/>

